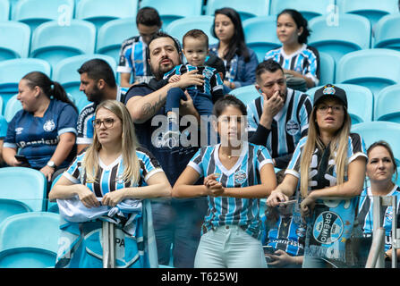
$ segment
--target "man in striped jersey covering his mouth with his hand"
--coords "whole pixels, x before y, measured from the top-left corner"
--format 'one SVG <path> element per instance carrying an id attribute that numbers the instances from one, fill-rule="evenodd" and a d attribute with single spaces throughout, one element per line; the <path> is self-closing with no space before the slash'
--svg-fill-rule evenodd
<path id="1" fill-rule="evenodd" d="M 284 169 L 307 135 L 311 99 L 286 87 L 284 71 L 274 60 L 258 65 L 256 80 L 261 97 L 247 105 L 249 141 L 266 146 L 275 166 Z"/>

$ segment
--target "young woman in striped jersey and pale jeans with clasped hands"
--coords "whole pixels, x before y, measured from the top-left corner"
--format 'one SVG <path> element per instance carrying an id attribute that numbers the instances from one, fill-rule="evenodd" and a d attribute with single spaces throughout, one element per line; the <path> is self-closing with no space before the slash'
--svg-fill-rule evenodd
<path id="1" fill-rule="evenodd" d="M 267 267 L 260 242 L 260 198 L 277 185 L 266 147 L 245 140 L 246 106 L 227 95 L 217 101 L 221 143 L 201 147 L 173 189 L 176 198 L 208 196 L 194 266 Z M 204 177 L 203 185 L 193 185 Z"/>

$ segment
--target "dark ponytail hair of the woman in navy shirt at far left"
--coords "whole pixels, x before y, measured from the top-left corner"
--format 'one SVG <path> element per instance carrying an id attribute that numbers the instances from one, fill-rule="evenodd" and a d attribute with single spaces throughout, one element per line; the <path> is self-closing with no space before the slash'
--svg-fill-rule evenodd
<path id="1" fill-rule="evenodd" d="M 27 73 L 21 80 L 27 80 L 27 85 L 31 89 L 35 87 L 41 88 L 43 93 L 50 99 L 51 97 L 54 97 L 55 99 L 72 105 L 73 108 L 75 108 L 75 110 L 78 112 L 78 109 L 67 96 L 61 84 L 59 84 L 57 81 L 50 80 L 45 73 L 40 71 L 31 71 L 30 73 Z"/>

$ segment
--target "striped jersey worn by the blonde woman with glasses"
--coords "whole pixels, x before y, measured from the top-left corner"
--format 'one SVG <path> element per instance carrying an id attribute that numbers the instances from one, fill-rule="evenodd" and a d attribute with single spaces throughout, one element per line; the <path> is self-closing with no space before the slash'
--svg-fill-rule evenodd
<path id="1" fill-rule="evenodd" d="M 102 198 L 106 193 L 114 191 L 115 189 L 123 189 L 129 187 L 141 187 L 146 185 L 156 172 L 163 172 L 157 160 L 145 148 L 139 147 L 136 149 L 140 163 L 140 181 L 132 185 L 131 181 L 123 181 L 123 156 L 119 156 L 114 163 L 106 165 L 99 158 L 98 173 L 96 181 L 88 181 L 86 173 L 82 170 L 82 160 L 86 152 L 77 156 L 75 161 L 70 165 L 64 176 L 75 184 L 86 185 L 91 191 L 96 194 L 96 197 Z"/>

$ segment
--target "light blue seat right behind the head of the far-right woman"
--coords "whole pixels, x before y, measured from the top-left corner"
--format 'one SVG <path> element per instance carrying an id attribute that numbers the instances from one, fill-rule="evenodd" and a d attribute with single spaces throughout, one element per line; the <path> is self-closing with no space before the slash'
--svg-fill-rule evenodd
<path id="1" fill-rule="evenodd" d="M 395 156 L 396 165 L 400 165 L 400 124 L 395 122 L 362 122 L 352 126 L 352 132 L 362 135 L 365 141 L 365 147 L 372 143 L 385 140 L 390 144 Z"/>

